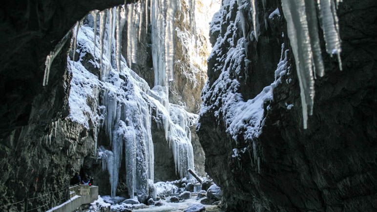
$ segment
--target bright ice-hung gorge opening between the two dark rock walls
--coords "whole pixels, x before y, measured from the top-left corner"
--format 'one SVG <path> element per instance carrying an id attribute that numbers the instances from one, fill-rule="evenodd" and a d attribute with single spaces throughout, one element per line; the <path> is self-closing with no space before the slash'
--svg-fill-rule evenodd
<path id="1" fill-rule="evenodd" d="M 197 180 L 188 170 L 207 179 L 195 128 L 209 22 L 219 8 L 218 0 L 142 0 L 91 11 L 72 28 L 66 127 L 80 133 L 67 156 L 80 141 L 93 142 L 80 175 L 96 179 L 105 202 L 193 191 Z M 192 188 L 180 188 L 186 184 Z"/>

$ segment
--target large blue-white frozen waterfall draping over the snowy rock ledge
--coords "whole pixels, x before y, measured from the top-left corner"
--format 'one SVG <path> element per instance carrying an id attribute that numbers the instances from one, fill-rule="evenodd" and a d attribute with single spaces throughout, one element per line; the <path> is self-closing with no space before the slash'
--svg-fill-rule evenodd
<path id="1" fill-rule="evenodd" d="M 160 1 L 151 1 L 151 3 L 161 5 Z M 68 118 L 88 129 L 93 129 L 95 142 L 98 139 L 98 132 L 100 130 L 105 132 L 111 149 L 100 147 L 98 156 L 102 159 L 103 169 L 109 172 L 111 196 L 116 195 L 120 166 L 126 166 L 126 185 L 131 198 L 135 194 L 148 195 L 149 181 L 152 182 L 154 178 L 152 116 L 165 131 L 167 141 L 173 151 L 177 174 L 188 178 L 191 178 L 191 175 L 187 170 L 194 168 L 189 127 L 197 120 L 197 115 L 188 113 L 182 106 L 169 104 L 165 67 L 173 61 L 167 62 L 165 58 L 166 55 L 172 57 L 171 52 L 163 57 L 159 57 L 159 54 L 153 55 L 153 61 L 162 65 L 156 66 L 155 75 L 159 78 L 152 89 L 145 80 L 128 68 L 126 59 L 121 54 L 121 31 L 127 19 L 127 29 L 135 33 L 133 35 L 135 37 L 127 43 L 127 48 L 131 48 L 127 58 L 131 61 L 135 59 L 133 54 L 136 51 L 134 48 L 137 42 L 137 29 L 140 30 L 140 26 L 139 28 L 134 26 L 135 20 L 139 20 L 134 17 L 138 15 L 137 12 L 132 11 L 139 11 L 142 8 L 140 4 L 141 2 L 124 7 L 118 6 L 100 12 L 100 51 L 95 50 L 98 46 L 92 42 L 98 36 L 94 33 L 95 27 L 91 27 L 93 23 L 81 26 L 77 33 L 79 60 L 75 62 L 68 59 L 68 70 L 72 73 Z M 173 30 L 172 26 L 166 29 L 164 22 L 158 21 L 163 21 L 164 14 L 173 11 L 166 10 L 158 13 L 156 10 L 160 9 L 157 6 L 152 7 L 151 15 L 153 16 L 154 12 L 156 18 L 154 21 L 152 19 L 152 30 L 157 30 L 159 33 L 172 33 L 170 31 Z M 115 20 L 113 20 L 114 17 Z M 115 32 L 114 23 L 116 23 Z M 173 43 L 169 36 L 159 37 L 162 40 L 154 44 L 158 48 L 166 48 L 169 44 L 165 42 Z M 116 41 L 115 45 L 112 40 Z M 94 52 L 100 52 L 101 55 L 95 55 Z M 92 55 L 94 59 L 84 61 L 86 54 Z M 100 77 L 87 70 L 84 63 L 90 63 L 100 69 Z M 102 65 L 107 68 L 101 68 Z M 97 151 L 94 154 L 97 154 Z M 121 164 L 122 157 L 126 159 L 124 165 Z"/>

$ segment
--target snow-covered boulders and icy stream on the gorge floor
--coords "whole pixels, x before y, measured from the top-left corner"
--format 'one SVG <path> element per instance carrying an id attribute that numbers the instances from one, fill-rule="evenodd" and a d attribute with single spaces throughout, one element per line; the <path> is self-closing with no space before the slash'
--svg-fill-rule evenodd
<path id="1" fill-rule="evenodd" d="M 181 188 L 178 188 L 178 186 Z M 158 182 L 153 184 L 151 189 L 151 192 L 155 192 L 156 196 L 148 197 L 145 204 L 141 204 L 137 197 L 126 199 L 120 196 L 99 196 L 98 200 L 90 205 L 87 212 L 223 211 L 220 201 L 222 199 L 222 191 L 210 180 L 205 180 L 203 184 L 193 184 L 186 180 Z"/>

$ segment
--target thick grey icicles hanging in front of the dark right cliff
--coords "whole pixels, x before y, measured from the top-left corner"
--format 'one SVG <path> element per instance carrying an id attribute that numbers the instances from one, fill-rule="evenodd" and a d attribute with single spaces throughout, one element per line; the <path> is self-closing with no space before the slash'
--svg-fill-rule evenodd
<path id="1" fill-rule="evenodd" d="M 327 53 L 338 57 L 340 61 L 340 36 L 333 0 L 282 0 L 288 36 L 291 41 L 296 63 L 297 76 L 301 90 L 302 115 L 304 128 L 307 128 L 308 114 L 313 114 L 314 79 L 324 75 L 324 66 L 319 46 L 317 27 L 317 8 L 321 19 Z"/>

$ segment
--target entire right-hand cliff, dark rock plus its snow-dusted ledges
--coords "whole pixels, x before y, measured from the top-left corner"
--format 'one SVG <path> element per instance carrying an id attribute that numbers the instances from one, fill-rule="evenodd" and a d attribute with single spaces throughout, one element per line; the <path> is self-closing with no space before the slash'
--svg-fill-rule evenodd
<path id="1" fill-rule="evenodd" d="M 264 9 L 266 1 L 256 1 L 258 42 L 251 35 L 251 15 L 237 2 L 244 3 L 223 0 L 212 22 L 211 41 L 219 45 L 209 58 L 197 127 L 206 171 L 222 187 L 227 209 L 376 210 L 376 2 L 339 3 L 343 70 L 321 40 L 325 76 L 316 79 L 306 130 L 280 1 L 267 1 Z M 251 107 L 262 94 L 260 113 Z M 230 95 L 245 108 L 238 123 L 229 120 L 237 118 L 227 108 Z"/>

